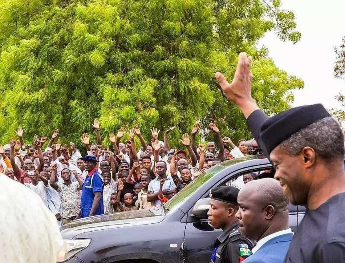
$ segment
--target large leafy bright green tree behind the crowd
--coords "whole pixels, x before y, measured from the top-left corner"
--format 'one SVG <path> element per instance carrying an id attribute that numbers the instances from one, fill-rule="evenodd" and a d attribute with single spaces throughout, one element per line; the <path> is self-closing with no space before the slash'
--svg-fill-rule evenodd
<path id="1" fill-rule="evenodd" d="M 293 102 L 303 81 L 267 58 L 269 30 L 297 42 L 294 13 L 279 0 L 0 0 L 0 133 L 79 142 L 100 119 L 104 140 L 119 127 L 176 126 L 171 140 L 209 122 L 233 140 L 249 137 L 214 73 L 234 74 L 237 54 L 254 58 L 253 96 L 267 114 Z"/>

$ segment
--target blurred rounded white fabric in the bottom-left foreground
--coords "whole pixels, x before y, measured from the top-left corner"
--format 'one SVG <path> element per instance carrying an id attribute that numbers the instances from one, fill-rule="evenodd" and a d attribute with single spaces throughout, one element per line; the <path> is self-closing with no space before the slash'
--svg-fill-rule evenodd
<path id="1" fill-rule="evenodd" d="M 24 185 L 0 176 L 1 261 L 55 263 L 63 247 L 56 218 Z"/>

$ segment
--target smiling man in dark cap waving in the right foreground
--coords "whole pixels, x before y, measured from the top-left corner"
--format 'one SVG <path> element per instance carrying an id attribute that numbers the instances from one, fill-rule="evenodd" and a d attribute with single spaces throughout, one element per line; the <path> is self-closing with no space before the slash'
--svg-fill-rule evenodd
<path id="1" fill-rule="evenodd" d="M 239 54 L 233 81 L 216 79 L 247 118 L 275 167 L 275 179 L 294 205 L 307 206 L 285 262 L 341 262 L 345 255 L 344 136 L 321 104 L 268 118 L 251 95 L 251 58 Z"/>

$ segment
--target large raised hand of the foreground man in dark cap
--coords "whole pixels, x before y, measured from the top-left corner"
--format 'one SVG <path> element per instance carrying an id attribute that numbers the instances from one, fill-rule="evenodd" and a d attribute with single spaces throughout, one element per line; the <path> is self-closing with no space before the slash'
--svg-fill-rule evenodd
<path id="1" fill-rule="evenodd" d="M 247 57 L 245 52 L 238 56 L 238 64 L 233 81 L 229 84 L 226 78 L 220 73 L 216 72 L 215 77 L 219 86 L 224 91 L 225 96 L 240 105 L 244 101 L 254 101 L 252 98 L 252 81 L 253 74 L 250 72 L 250 64 L 252 57 Z"/>

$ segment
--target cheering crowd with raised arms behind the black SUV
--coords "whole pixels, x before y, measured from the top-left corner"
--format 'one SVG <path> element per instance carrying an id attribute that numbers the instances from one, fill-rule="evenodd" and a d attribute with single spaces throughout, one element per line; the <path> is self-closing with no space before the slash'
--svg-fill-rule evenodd
<path id="1" fill-rule="evenodd" d="M 210 167 L 252 152 L 246 140 L 235 145 L 230 138 L 222 138 L 215 124 L 209 127 L 217 142 L 197 145 L 199 125 L 195 124 L 191 136 L 185 133 L 181 138 L 185 149 L 170 149 L 168 136 L 174 127 L 165 131 L 164 142 L 158 140 L 160 131 L 152 128 L 150 145 L 136 126 L 129 131 L 129 140 L 121 142 L 124 129 L 120 128 L 117 134 L 109 134 L 112 152 L 101 144 L 96 119 L 93 128 L 97 143 L 90 145 L 89 135 L 82 134 L 87 150 L 84 157 L 73 142 L 70 147 L 62 146 L 59 130 L 53 132 L 45 149 L 42 146 L 47 138 L 37 136 L 27 148 L 23 128 L 19 127 L 17 141 L 0 145 L 0 172 L 36 192 L 59 225 L 79 217 L 150 209 L 167 202 Z M 135 136 L 140 139 L 140 147 L 136 146 Z"/>

